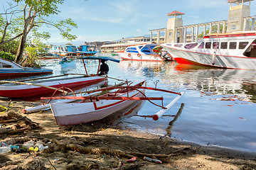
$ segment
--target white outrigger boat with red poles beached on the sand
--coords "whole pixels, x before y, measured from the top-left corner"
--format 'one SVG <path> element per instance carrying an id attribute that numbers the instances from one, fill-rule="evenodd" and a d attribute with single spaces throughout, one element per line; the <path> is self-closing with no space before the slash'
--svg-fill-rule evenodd
<path id="1" fill-rule="evenodd" d="M 127 83 L 128 84 L 128 83 Z M 114 92 L 103 94 L 101 96 L 64 96 L 64 97 L 42 97 L 41 99 L 80 99 L 80 103 L 50 103 L 51 111 L 55 117 L 55 120 L 58 125 L 77 125 L 80 123 L 89 123 L 95 120 L 100 120 L 112 115 L 117 111 L 122 111 L 122 109 L 127 108 L 127 106 L 132 105 L 136 101 L 141 100 L 163 100 L 162 97 L 146 97 L 145 89 L 164 91 L 171 94 L 178 94 L 180 98 L 183 93 L 179 94 L 173 91 L 166 91 L 161 89 L 153 89 L 150 87 L 144 86 L 144 81 L 140 82 L 135 86 L 122 86 L 122 87 L 112 87 L 106 89 L 95 90 L 93 92 L 102 91 L 102 90 L 112 90 L 117 89 Z M 140 89 L 140 90 L 139 90 Z M 153 116 L 154 120 L 158 120 L 161 115 L 166 113 L 166 111 L 171 108 L 171 106 L 178 101 L 178 98 L 169 103 L 168 106 L 160 106 L 161 113 L 156 113 Z M 152 102 L 151 102 L 152 103 Z M 155 104 L 155 103 L 154 103 Z M 156 106 L 159 106 L 155 104 Z"/>

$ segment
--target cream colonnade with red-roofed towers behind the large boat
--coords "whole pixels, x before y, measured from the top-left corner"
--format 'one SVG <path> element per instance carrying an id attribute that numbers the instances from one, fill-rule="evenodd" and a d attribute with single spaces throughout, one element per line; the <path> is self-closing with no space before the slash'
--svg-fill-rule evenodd
<path id="1" fill-rule="evenodd" d="M 157 33 L 157 44 L 160 44 L 160 32 L 164 31 L 164 42 L 193 42 L 203 38 L 203 35 L 211 33 L 231 33 L 234 31 L 255 30 L 256 16 L 250 16 L 250 3 L 253 0 L 228 0 L 230 10 L 228 21 L 212 21 L 208 23 L 198 23 L 189 26 L 183 26 L 182 16 L 185 13 L 173 11 L 168 13 L 167 28 L 159 28 L 150 31 L 150 42 L 153 42 L 152 33 Z M 178 17 L 181 16 L 181 17 Z M 250 23 L 251 26 L 250 26 Z M 203 28 L 203 35 L 199 36 L 199 29 Z M 215 30 L 213 32 L 213 30 Z M 187 35 L 188 31 L 191 32 Z"/>

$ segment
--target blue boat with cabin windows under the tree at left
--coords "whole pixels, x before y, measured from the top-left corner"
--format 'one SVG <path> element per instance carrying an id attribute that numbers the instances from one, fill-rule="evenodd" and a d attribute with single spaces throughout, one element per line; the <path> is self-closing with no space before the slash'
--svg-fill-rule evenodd
<path id="1" fill-rule="evenodd" d="M 15 62 L 0 58 L 0 77 L 33 76 L 52 72 L 52 69 L 22 67 Z"/>

